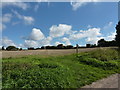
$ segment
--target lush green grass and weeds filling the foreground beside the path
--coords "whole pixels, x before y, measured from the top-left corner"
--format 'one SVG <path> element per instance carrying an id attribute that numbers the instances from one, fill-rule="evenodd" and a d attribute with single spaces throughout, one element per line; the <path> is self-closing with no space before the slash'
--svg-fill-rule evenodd
<path id="1" fill-rule="evenodd" d="M 80 88 L 120 73 L 114 49 L 56 57 L 26 56 L 2 60 L 3 88 Z"/>

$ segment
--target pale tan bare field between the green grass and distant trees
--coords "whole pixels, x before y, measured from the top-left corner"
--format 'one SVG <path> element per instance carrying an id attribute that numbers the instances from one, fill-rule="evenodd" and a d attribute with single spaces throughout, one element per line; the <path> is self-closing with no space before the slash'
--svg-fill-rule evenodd
<path id="1" fill-rule="evenodd" d="M 79 52 L 86 52 L 95 50 L 97 48 L 85 48 L 79 49 Z M 26 55 L 44 55 L 44 56 L 56 56 L 56 55 L 67 55 L 76 53 L 76 49 L 65 49 L 65 50 L 26 50 L 26 51 L 2 51 L 2 58 L 9 57 L 22 57 Z"/>

